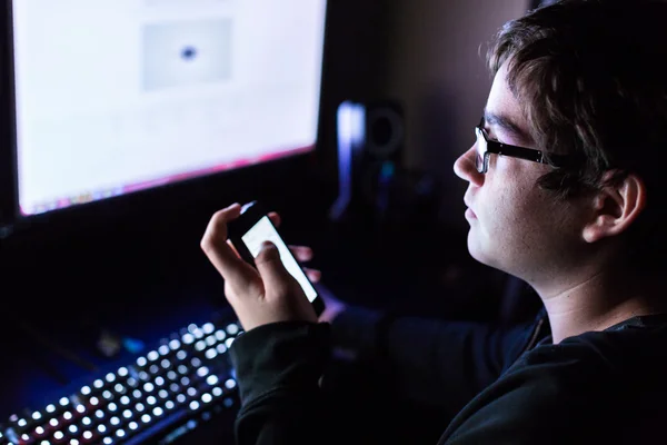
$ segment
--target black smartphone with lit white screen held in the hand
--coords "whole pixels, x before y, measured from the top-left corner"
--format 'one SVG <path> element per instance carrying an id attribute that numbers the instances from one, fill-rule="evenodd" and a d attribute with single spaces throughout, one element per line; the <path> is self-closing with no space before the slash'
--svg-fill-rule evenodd
<path id="1" fill-rule="evenodd" d="M 318 295 L 312 283 L 278 234 L 263 206 L 258 201 L 246 204 L 241 208 L 241 216 L 229 225 L 228 230 L 229 240 L 239 256 L 253 267 L 261 245 L 265 241 L 273 243 L 280 253 L 285 268 L 299 283 L 306 297 L 312 304 L 315 313 L 319 316 L 325 310 L 323 299 Z"/>

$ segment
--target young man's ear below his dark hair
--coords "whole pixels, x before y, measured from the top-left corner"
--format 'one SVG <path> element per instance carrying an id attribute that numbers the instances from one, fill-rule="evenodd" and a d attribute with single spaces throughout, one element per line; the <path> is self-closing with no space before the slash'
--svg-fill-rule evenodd
<path id="1" fill-rule="evenodd" d="M 611 177 L 608 172 L 603 184 Z M 595 243 L 605 237 L 617 236 L 637 219 L 646 207 L 646 185 L 630 174 L 620 184 L 604 186 L 593 199 L 593 220 L 584 227 L 584 239 Z"/>

